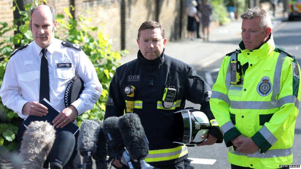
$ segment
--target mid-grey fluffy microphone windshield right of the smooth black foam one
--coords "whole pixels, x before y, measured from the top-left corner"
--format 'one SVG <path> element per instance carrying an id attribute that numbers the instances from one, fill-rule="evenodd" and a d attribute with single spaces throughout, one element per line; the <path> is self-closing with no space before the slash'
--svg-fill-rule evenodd
<path id="1" fill-rule="evenodd" d="M 85 120 L 81 123 L 80 134 L 78 135 L 77 148 L 80 150 L 80 155 L 86 156 L 87 151 L 92 151 L 91 155 L 96 150 L 100 127 L 99 123 L 94 120 Z"/>

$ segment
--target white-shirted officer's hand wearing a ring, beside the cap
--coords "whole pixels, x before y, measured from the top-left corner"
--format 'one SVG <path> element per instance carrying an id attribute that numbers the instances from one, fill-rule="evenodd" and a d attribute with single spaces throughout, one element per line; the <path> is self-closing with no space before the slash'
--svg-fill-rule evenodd
<path id="1" fill-rule="evenodd" d="M 73 105 L 64 108 L 64 110 L 60 112 L 60 114 L 57 115 L 56 118 L 53 119 L 52 121 L 52 123 L 54 123 L 53 126 L 56 126 L 56 128 L 59 127 L 63 128 L 67 124 L 72 122 L 76 118 L 77 114 L 78 112 Z"/>

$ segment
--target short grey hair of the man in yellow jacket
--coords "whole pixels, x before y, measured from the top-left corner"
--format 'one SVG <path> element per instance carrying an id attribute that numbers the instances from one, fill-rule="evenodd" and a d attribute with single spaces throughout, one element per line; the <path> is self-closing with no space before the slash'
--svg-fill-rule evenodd
<path id="1" fill-rule="evenodd" d="M 253 18 L 259 17 L 260 18 L 259 26 L 263 30 L 266 30 L 266 28 L 272 26 L 270 14 L 266 10 L 264 10 L 260 7 L 248 9 L 248 11 L 243 13 L 240 17 L 242 19 L 253 19 Z"/>

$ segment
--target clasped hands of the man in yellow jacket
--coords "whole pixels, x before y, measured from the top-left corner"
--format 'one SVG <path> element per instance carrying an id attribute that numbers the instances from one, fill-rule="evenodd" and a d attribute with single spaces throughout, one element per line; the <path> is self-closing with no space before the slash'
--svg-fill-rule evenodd
<path id="1" fill-rule="evenodd" d="M 242 153 L 252 154 L 259 149 L 250 137 L 237 139 L 235 143 L 241 144 L 236 150 Z"/>

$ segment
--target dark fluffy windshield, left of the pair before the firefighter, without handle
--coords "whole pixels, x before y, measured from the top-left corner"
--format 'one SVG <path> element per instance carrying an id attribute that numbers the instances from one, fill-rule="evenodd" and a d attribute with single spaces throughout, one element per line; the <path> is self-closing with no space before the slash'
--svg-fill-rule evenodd
<path id="1" fill-rule="evenodd" d="M 122 152 L 124 145 L 118 128 L 118 117 L 113 116 L 105 119 L 103 122 L 103 132 L 112 151 Z"/>

